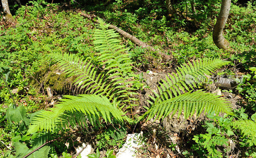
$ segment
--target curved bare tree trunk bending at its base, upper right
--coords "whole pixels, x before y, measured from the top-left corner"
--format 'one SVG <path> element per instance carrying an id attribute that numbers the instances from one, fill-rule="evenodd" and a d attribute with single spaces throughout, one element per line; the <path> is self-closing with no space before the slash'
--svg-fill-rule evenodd
<path id="1" fill-rule="evenodd" d="M 231 0 L 222 0 L 220 14 L 213 28 L 212 39 L 219 49 L 228 50 L 229 42 L 224 38 L 222 31 L 228 19 Z"/>

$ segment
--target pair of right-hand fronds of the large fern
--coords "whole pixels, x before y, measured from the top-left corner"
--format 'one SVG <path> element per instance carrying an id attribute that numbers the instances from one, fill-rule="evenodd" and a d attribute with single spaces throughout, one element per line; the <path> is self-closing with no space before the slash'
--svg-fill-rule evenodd
<path id="1" fill-rule="evenodd" d="M 176 69 L 177 74 L 168 74 L 166 76 L 167 82 L 162 80 L 163 83 L 159 83 L 159 94 L 153 91 L 156 97 L 149 96 L 152 99 L 152 101 L 148 100 L 151 106 L 142 118 L 148 116 L 149 120 L 156 115 L 156 119 L 160 119 L 170 113 L 173 116 L 177 111 L 179 111 L 179 117 L 182 110 L 185 118 L 194 113 L 200 115 L 203 111 L 204 113 L 215 111 L 216 113 L 224 112 L 233 115 L 227 100 L 203 91 L 189 91 L 194 89 L 198 83 L 207 80 L 206 75 L 211 75 L 211 72 L 216 68 L 227 63 L 228 61 L 221 59 L 199 59 L 193 64 L 188 62 L 188 64 L 178 67 Z"/>

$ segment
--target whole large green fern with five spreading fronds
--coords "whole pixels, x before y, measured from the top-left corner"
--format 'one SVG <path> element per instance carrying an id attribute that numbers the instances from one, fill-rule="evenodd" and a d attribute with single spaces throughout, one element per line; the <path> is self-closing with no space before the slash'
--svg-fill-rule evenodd
<path id="1" fill-rule="evenodd" d="M 99 19 L 100 24 L 94 31 L 95 57 L 79 58 L 74 54 L 51 53 L 49 56 L 59 63 L 64 73 L 75 76 L 75 83 L 83 85 L 87 94 L 79 96 L 64 96 L 61 103 L 48 110 L 41 110 L 33 118 L 29 133 L 38 130 L 53 130 L 60 126 L 86 125 L 86 119 L 92 125 L 101 120 L 107 123 L 130 121 L 120 109 L 126 105 L 131 107 L 136 100 L 137 89 L 129 84 L 129 78 L 135 76 L 132 72 L 132 62 L 128 48 L 120 44 L 114 30 L 108 30 L 108 24 Z M 88 55 L 90 56 L 90 55 Z M 96 58 L 96 59 L 95 59 Z M 199 59 L 176 69 L 177 74 L 169 74 L 166 81 L 160 83 L 158 93 L 150 96 L 152 105 L 142 118 L 161 118 L 179 111 L 184 111 L 185 117 L 201 112 L 225 112 L 232 114 L 226 100 L 218 96 L 190 90 L 196 83 L 205 79 L 212 71 L 228 62 L 220 59 Z M 188 77 L 193 78 L 188 80 Z M 119 107 L 119 108 L 118 108 Z M 73 116 L 74 117 L 70 117 Z M 86 119 L 84 119 L 86 118 Z"/>

